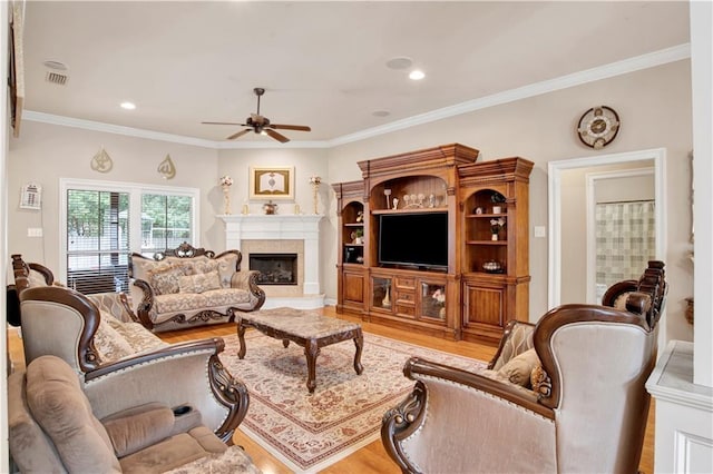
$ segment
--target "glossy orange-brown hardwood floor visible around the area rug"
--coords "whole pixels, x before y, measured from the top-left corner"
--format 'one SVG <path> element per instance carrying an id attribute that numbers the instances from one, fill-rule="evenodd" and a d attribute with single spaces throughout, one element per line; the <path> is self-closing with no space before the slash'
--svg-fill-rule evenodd
<path id="1" fill-rule="evenodd" d="M 438 337 L 430 337 L 419 335 L 414 333 L 408 333 L 400 329 L 394 329 L 377 324 L 362 322 L 359 318 L 339 315 L 334 310 L 333 306 L 328 306 L 323 310 L 324 315 L 339 317 L 341 319 L 348 319 L 358 322 L 362 325 L 362 328 L 367 333 L 378 334 L 380 336 L 391 337 L 393 339 L 406 340 L 411 344 L 418 344 L 421 346 L 430 347 L 438 350 L 448 352 L 451 354 L 458 354 L 467 357 L 477 358 L 480 361 L 490 361 L 496 352 L 496 347 L 486 344 L 468 343 L 468 342 L 453 342 L 446 340 Z M 178 330 L 172 333 L 159 333 L 158 335 L 168 343 L 178 343 L 183 340 L 192 340 L 204 337 L 222 337 L 226 335 L 235 334 L 234 324 L 214 325 L 207 327 L 198 327 L 195 329 Z M 8 347 L 10 357 L 14 363 L 16 368 L 25 365 L 22 357 L 21 340 L 17 337 L 14 329 L 8 332 Z M 240 374 L 234 374 L 240 377 Z M 652 406 L 648 415 L 648 425 L 646 426 L 646 436 L 644 440 L 644 452 L 642 454 L 642 461 L 639 464 L 639 472 L 644 474 L 653 473 L 654 463 L 654 406 Z M 252 456 L 255 464 L 265 474 L 289 474 L 292 471 L 284 464 L 277 461 L 274 456 L 263 450 L 257 443 L 252 441 L 238 431 L 233 436 L 233 442 L 245 447 L 245 451 Z M 477 446 L 473 446 L 477 448 Z M 596 447 L 595 447 L 596 448 Z M 380 473 L 380 474 L 398 474 L 400 470 L 387 455 L 381 441 L 377 440 L 373 443 L 362 447 L 350 456 L 339 461 L 338 463 L 321 471 L 328 474 L 363 474 L 363 473 Z"/>

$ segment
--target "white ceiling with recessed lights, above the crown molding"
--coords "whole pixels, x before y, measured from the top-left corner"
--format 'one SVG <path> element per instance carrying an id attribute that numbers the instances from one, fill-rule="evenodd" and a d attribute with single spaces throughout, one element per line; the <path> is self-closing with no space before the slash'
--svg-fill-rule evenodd
<path id="1" fill-rule="evenodd" d="M 254 87 L 273 122 L 312 127 L 284 131 L 291 145 L 333 142 L 688 42 L 687 1 L 28 0 L 25 17 L 30 119 L 218 142 L 240 127 L 201 121 L 244 122 Z M 395 57 L 426 79 L 388 68 Z M 46 80 L 47 60 L 67 65 L 66 85 Z"/>

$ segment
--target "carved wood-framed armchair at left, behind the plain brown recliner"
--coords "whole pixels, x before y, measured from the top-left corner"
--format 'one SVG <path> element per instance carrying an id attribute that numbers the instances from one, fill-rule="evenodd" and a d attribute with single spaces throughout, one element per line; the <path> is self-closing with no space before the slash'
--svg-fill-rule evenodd
<path id="1" fill-rule="evenodd" d="M 80 376 L 97 417 L 146 398 L 168 406 L 191 404 L 204 425 L 228 441 L 245 416 L 247 389 L 221 363 L 222 338 L 168 345 L 137 323 L 125 324 L 138 328 L 125 338 L 120 326 L 102 323 L 97 305 L 72 289 L 32 287 L 19 297 L 26 364 L 43 355 L 65 361 Z M 104 313 L 104 318 L 111 316 Z M 158 343 L 146 343 L 153 339 Z M 137 350 L 127 342 L 146 348 Z"/>

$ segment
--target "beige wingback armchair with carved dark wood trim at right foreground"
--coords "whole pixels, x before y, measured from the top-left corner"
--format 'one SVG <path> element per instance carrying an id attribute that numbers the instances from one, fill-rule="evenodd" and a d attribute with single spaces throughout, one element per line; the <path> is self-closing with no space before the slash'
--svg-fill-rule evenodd
<path id="1" fill-rule="evenodd" d="M 626 309 L 564 305 L 511 323 L 488 371 L 411 358 L 412 394 L 383 418 L 403 472 L 635 473 L 666 295 L 652 261 Z"/>

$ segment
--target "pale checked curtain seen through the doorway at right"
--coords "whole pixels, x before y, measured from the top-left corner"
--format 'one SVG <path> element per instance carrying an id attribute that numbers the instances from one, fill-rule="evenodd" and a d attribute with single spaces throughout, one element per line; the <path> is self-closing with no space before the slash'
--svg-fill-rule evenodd
<path id="1" fill-rule="evenodd" d="M 596 205 L 597 293 L 623 279 L 638 279 L 654 259 L 654 206 L 653 200 Z"/>

